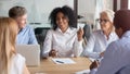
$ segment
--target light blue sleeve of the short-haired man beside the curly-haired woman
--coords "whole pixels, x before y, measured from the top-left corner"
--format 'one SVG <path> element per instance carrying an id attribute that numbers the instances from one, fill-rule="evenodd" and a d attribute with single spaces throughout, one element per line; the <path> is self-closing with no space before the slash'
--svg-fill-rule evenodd
<path id="1" fill-rule="evenodd" d="M 36 36 L 35 36 L 35 32 L 31 27 L 29 27 L 29 45 L 38 45 L 38 41 L 36 39 Z"/>

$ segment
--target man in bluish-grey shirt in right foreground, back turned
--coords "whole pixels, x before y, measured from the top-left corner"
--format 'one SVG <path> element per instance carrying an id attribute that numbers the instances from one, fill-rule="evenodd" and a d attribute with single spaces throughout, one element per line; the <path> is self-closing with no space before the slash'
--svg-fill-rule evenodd
<path id="1" fill-rule="evenodd" d="M 90 65 L 91 74 L 118 74 L 120 69 L 130 65 L 130 10 L 117 11 L 114 25 L 120 39 L 108 46 L 100 65 L 96 61 Z"/>

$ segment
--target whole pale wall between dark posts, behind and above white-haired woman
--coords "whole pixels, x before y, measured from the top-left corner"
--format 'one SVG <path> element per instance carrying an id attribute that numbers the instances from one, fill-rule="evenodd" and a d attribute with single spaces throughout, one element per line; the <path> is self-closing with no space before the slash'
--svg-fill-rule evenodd
<path id="1" fill-rule="evenodd" d="M 84 16 L 78 22 L 95 25 L 95 18 L 100 16 L 100 12 L 104 9 L 113 10 L 113 0 L 78 0 L 78 15 Z M 95 28 L 99 27 L 95 26 Z"/>

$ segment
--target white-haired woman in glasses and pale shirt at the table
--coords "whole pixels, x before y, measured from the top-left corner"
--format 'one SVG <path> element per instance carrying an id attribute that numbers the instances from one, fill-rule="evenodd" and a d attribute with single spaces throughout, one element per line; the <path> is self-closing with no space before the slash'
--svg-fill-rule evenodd
<path id="1" fill-rule="evenodd" d="M 100 14 L 101 29 L 92 33 L 88 45 L 83 51 L 83 55 L 99 59 L 102 58 L 106 47 L 118 39 L 113 25 L 114 12 L 112 10 L 105 10 Z"/>

